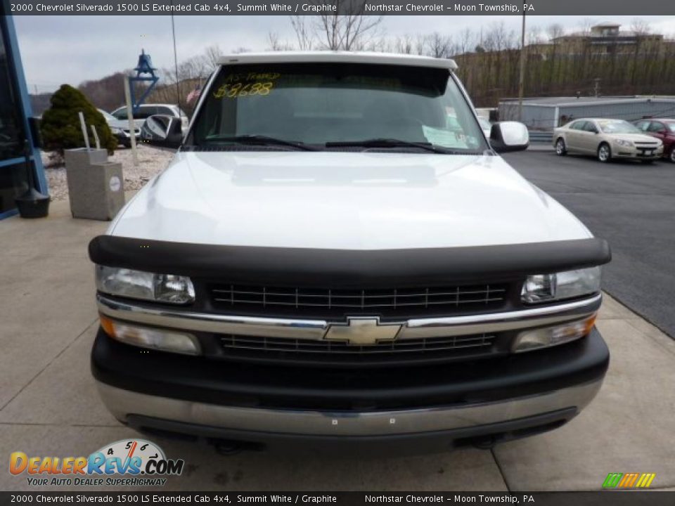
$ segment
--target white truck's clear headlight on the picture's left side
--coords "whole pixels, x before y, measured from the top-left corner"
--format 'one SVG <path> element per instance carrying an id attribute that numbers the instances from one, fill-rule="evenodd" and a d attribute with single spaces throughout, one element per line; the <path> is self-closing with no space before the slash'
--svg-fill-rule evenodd
<path id="1" fill-rule="evenodd" d="M 99 292 L 169 304 L 195 300 L 195 287 L 187 276 L 134 271 L 128 268 L 96 266 Z"/>

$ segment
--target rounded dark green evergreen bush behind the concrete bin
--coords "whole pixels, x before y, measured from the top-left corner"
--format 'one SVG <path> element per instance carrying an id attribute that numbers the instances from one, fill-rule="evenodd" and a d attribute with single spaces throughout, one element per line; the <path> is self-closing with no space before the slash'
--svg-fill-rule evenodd
<path id="1" fill-rule="evenodd" d="M 82 111 L 86 123 L 89 145 L 96 146 L 91 126 L 96 127 L 101 148 L 107 149 L 111 155 L 117 147 L 117 139 L 110 132 L 105 118 L 91 105 L 84 94 L 63 84 L 56 93 L 51 96 L 51 108 L 42 115 L 41 133 L 44 141 L 44 149 L 56 151 L 63 157 L 63 150 L 72 148 L 84 148 L 82 127 L 79 124 L 78 112 Z"/>

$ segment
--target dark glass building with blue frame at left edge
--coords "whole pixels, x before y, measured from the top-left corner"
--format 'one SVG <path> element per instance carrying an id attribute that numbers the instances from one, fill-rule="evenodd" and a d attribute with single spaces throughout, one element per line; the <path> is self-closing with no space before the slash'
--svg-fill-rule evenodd
<path id="1" fill-rule="evenodd" d="M 47 183 L 40 152 L 30 131 L 26 80 L 8 3 L 0 0 L 0 219 L 16 214 L 14 199 L 28 189 L 26 143 L 37 189 Z"/>

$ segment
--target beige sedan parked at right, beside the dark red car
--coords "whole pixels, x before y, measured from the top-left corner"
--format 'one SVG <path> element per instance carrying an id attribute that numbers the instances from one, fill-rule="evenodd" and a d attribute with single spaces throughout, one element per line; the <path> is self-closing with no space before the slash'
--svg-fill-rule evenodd
<path id="1" fill-rule="evenodd" d="M 581 118 L 553 130 L 555 153 L 596 155 L 600 162 L 631 158 L 651 163 L 663 154 L 663 143 L 623 119 Z"/>

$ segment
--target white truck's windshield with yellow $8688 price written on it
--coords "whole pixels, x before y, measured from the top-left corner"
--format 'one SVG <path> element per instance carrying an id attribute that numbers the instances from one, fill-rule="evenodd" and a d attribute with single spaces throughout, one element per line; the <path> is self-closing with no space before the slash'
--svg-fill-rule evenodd
<path id="1" fill-rule="evenodd" d="M 461 153 L 488 148 L 448 70 L 399 65 L 221 67 L 186 144 L 227 145 L 242 136 L 319 149 L 368 149 L 366 141 L 374 140 L 390 149 L 412 148 L 392 141 Z"/>

